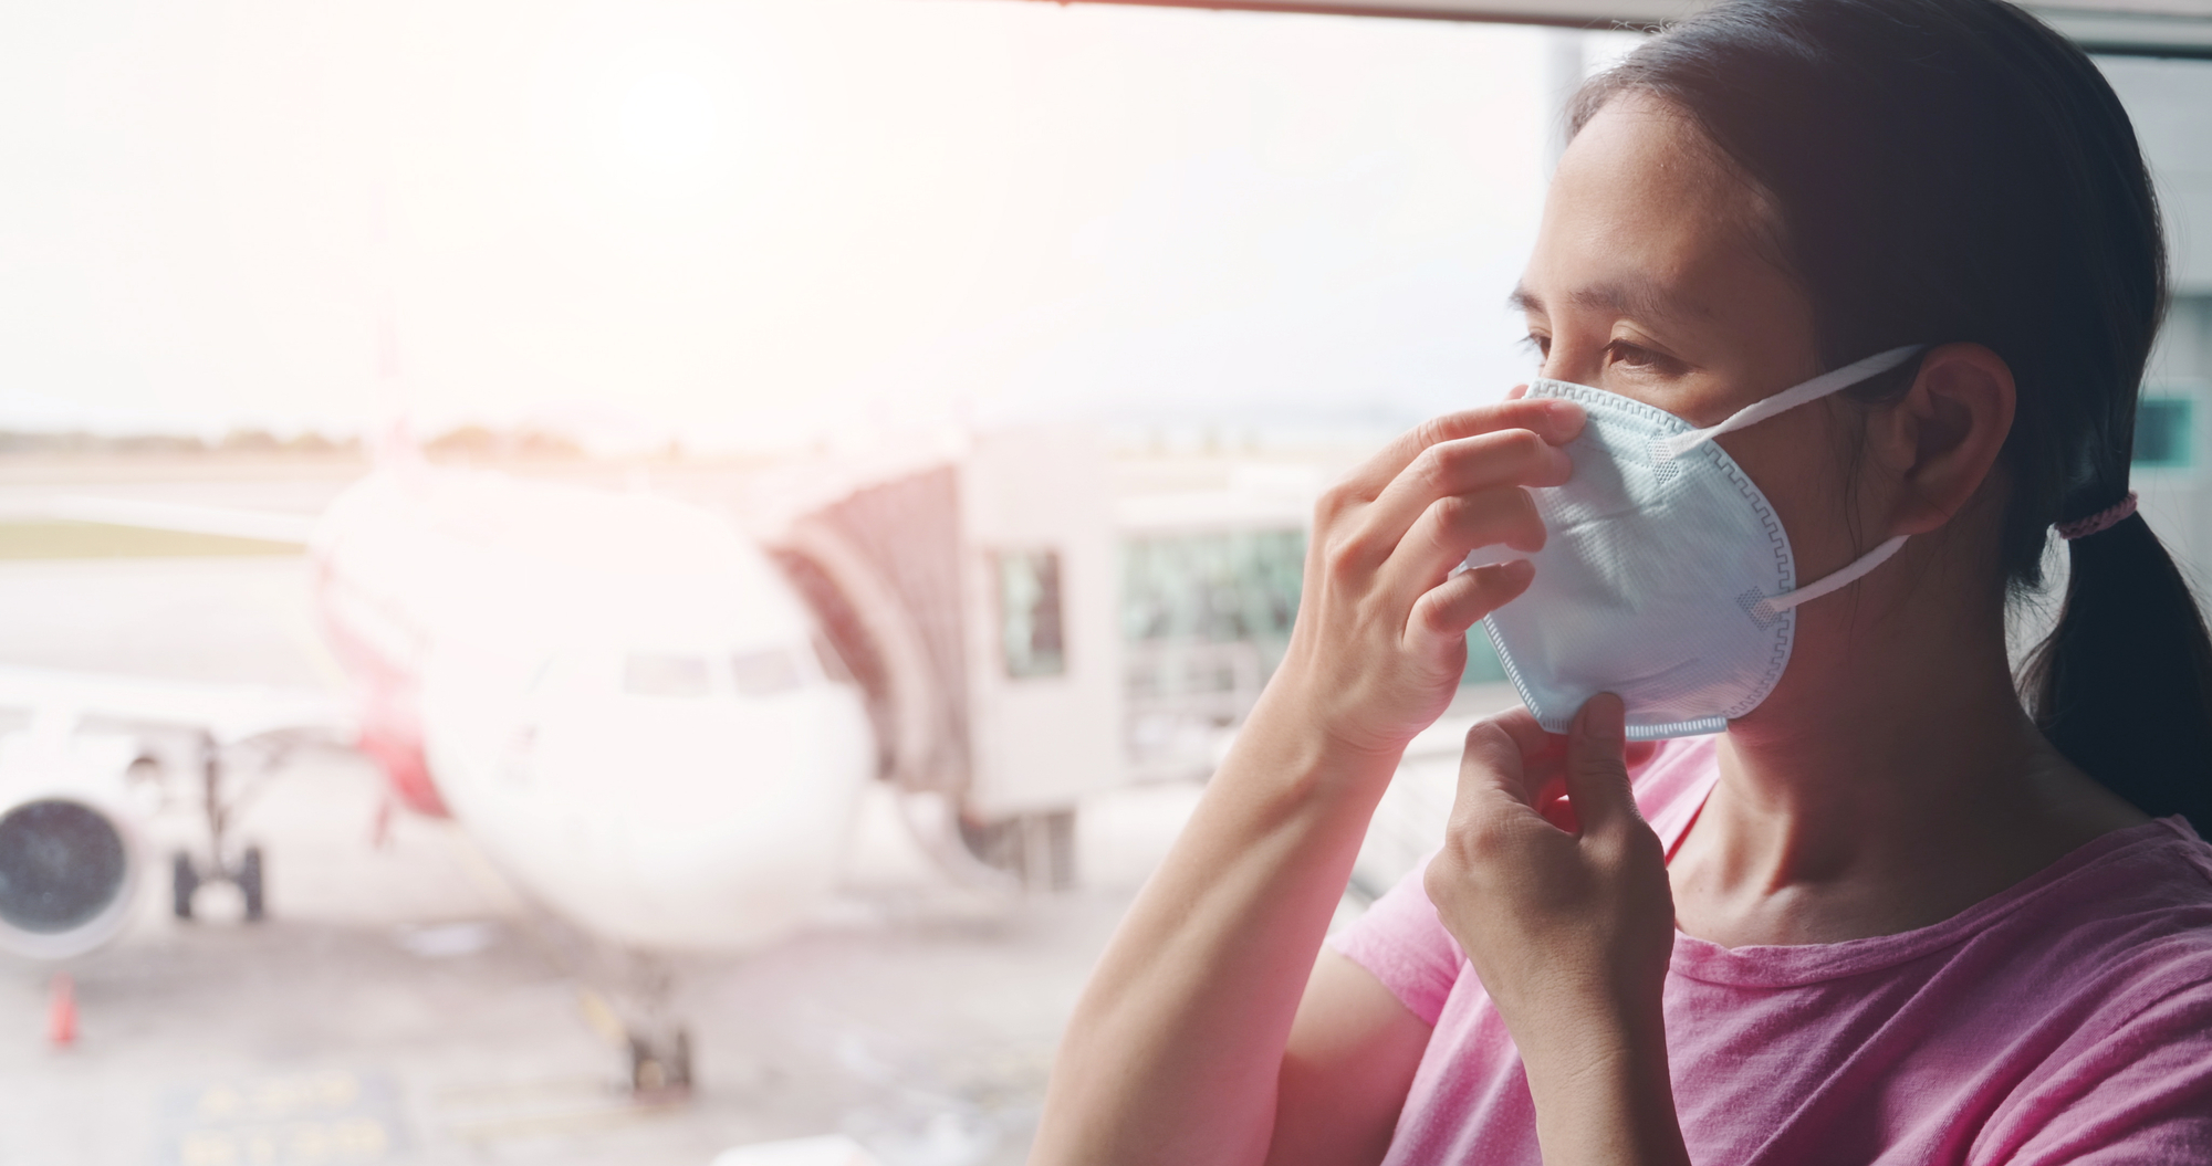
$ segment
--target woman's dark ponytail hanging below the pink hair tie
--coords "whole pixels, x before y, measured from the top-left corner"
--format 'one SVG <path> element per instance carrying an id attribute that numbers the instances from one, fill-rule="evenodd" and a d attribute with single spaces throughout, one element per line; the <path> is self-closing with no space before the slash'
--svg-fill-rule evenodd
<path id="1" fill-rule="evenodd" d="M 2044 738 L 2152 817 L 2212 837 L 2212 634 L 2141 515 L 2066 543 L 2059 623 L 2022 689 Z"/>

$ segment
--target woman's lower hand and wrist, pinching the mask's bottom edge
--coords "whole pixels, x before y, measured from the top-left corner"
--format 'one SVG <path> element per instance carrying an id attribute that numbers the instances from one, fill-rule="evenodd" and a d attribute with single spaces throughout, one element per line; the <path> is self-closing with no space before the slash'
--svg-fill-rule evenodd
<path id="1" fill-rule="evenodd" d="M 1425 879 L 1520 1047 L 1544 1162 L 1686 1159 L 1661 1014 L 1674 897 L 1621 718 L 1606 693 L 1564 738 L 1524 709 L 1475 724 Z"/>

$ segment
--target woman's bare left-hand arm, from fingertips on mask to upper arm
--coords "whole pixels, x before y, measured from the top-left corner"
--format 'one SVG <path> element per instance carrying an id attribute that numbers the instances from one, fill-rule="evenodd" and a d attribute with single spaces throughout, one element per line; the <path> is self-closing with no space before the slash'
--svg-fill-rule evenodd
<path id="1" fill-rule="evenodd" d="M 1376 1007 L 1325 1027 L 1321 1060 L 1365 1075 L 1340 1086 L 1285 1067 L 1298 1000 L 1398 753 L 1451 702 L 1467 627 L 1531 574 L 1451 568 L 1544 545 L 1526 488 L 1566 481 L 1557 446 L 1579 431 L 1557 400 L 1453 413 L 1321 499 L 1283 667 L 1099 956 L 1031 1162 L 1259 1166 L 1387 1133 L 1425 1045 L 1394 1025 L 1409 1014 L 1367 983 Z M 1281 1124 L 1285 1073 L 1292 1104 L 1325 1106 Z"/>

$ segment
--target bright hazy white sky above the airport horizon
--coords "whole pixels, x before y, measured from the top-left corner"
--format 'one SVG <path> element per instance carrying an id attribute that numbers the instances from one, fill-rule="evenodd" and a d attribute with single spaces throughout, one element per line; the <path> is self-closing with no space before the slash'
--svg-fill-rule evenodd
<path id="1" fill-rule="evenodd" d="M 1394 428 L 1531 367 L 1540 29 L 0 9 L 0 428 Z"/>

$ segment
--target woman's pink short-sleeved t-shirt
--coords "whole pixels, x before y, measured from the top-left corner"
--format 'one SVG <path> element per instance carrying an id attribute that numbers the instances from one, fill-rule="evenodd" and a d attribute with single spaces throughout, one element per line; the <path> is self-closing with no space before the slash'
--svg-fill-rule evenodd
<path id="1" fill-rule="evenodd" d="M 1714 738 L 1637 773 L 1668 852 L 1717 777 Z M 1385 1164 L 1540 1162 L 1520 1053 L 1420 870 L 1329 943 L 1436 1029 Z M 2212 846 L 2179 817 L 2115 830 L 1893 936 L 1677 932 L 1666 1031 L 1699 1164 L 2212 1162 Z"/>

